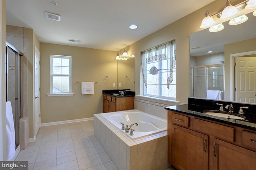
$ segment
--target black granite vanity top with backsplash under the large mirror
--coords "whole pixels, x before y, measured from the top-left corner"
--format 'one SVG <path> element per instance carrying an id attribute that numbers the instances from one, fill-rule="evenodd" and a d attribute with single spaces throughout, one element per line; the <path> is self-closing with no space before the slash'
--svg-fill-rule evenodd
<path id="1" fill-rule="evenodd" d="M 207 115 L 206 113 L 203 113 L 203 111 L 219 110 L 220 106 L 216 105 L 216 103 L 223 104 L 223 107 L 225 107 L 227 104 L 230 104 L 230 102 L 203 100 L 203 99 L 202 100 L 196 99 L 196 100 L 197 101 L 195 101 L 193 98 L 188 98 L 188 104 L 178 105 L 178 106 L 168 106 L 168 107 L 165 107 L 165 109 L 256 131 L 256 109 L 255 109 L 256 105 L 232 103 L 234 105 L 234 113 L 238 113 L 240 106 L 242 107 L 247 106 L 249 107 L 249 109 L 244 109 L 244 116 L 246 117 L 245 119 L 228 119 L 228 118 Z"/>

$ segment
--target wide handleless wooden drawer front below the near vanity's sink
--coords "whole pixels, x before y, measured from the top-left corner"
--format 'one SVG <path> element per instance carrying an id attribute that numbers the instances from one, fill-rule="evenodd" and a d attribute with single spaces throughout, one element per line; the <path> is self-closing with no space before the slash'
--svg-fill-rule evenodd
<path id="1" fill-rule="evenodd" d="M 226 141 L 234 142 L 235 129 L 233 127 L 219 125 L 217 123 L 203 121 L 200 119 L 193 119 L 192 126 L 196 131 L 210 134 Z"/>

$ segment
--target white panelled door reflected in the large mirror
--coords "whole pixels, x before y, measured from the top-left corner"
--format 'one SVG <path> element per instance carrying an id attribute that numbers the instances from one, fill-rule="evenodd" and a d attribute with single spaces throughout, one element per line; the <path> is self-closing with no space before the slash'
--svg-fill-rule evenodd
<path id="1" fill-rule="evenodd" d="M 236 57 L 236 102 L 256 103 L 256 57 Z"/>

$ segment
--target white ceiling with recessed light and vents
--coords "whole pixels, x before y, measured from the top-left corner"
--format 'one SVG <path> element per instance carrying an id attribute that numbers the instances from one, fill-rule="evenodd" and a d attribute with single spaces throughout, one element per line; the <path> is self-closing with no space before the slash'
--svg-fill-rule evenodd
<path id="1" fill-rule="evenodd" d="M 213 1 L 6 0 L 6 24 L 34 29 L 43 43 L 119 51 Z M 59 14 L 61 21 L 46 19 L 44 12 Z M 132 23 L 138 28 L 129 29 Z"/>

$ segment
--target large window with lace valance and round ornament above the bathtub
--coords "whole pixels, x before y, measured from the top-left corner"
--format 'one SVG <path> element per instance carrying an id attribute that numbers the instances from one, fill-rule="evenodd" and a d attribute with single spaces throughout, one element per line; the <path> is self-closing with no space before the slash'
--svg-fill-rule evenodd
<path id="1" fill-rule="evenodd" d="M 141 53 L 144 95 L 176 100 L 175 40 Z"/>

